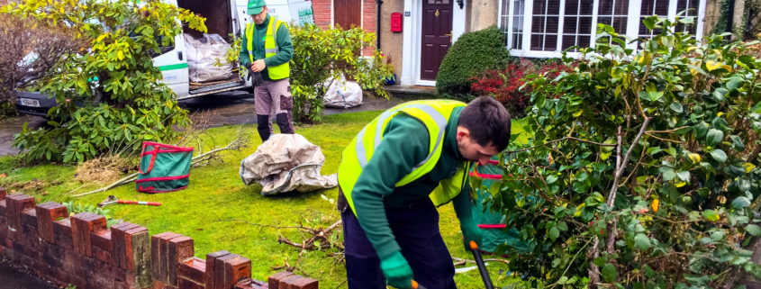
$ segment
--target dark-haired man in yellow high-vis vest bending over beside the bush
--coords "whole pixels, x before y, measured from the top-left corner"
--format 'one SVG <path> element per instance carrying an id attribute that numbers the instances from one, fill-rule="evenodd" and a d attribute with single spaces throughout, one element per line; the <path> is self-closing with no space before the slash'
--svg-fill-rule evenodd
<path id="1" fill-rule="evenodd" d="M 480 245 L 467 171 L 509 141 L 510 114 L 488 96 L 399 104 L 367 124 L 338 172 L 349 288 L 456 288 L 436 207 L 451 201 L 466 249 Z"/>

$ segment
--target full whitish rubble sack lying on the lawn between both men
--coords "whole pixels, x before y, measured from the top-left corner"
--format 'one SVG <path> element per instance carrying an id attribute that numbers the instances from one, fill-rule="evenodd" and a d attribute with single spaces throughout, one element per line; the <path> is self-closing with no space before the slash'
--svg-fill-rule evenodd
<path id="1" fill-rule="evenodd" d="M 261 194 L 301 193 L 338 185 L 338 176 L 322 176 L 322 149 L 300 134 L 274 134 L 240 162 L 240 179 L 259 183 Z"/>

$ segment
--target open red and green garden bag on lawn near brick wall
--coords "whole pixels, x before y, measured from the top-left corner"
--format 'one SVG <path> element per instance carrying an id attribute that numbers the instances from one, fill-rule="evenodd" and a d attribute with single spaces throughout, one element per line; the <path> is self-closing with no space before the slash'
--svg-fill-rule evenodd
<path id="1" fill-rule="evenodd" d="M 143 141 L 140 152 L 138 192 L 167 193 L 185 189 L 190 182 L 190 161 L 193 148 Z"/>

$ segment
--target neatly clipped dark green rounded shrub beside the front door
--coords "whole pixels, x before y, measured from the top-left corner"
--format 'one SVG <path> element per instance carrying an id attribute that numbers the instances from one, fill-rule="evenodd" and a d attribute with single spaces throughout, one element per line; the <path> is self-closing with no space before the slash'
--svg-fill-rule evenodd
<path id="1" fill-rule="evenodd" d="M 505 67 L 510 58 L 505 43 L 504 33 L 496 26 L 462 34 L 441 61 L 436 76 L 439 95 L 467 98 L 473 83 L 471 77 Z"/>

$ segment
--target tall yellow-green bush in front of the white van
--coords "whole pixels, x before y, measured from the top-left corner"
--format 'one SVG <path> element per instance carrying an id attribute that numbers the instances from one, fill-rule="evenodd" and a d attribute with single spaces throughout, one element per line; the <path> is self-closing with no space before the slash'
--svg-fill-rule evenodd
<path id="1" fill-rule="evenodd" d="M 56 122 L 38 131 L 24 127 L 16 136 L 14 146 L 26 159 L 70 163 L 104 152 L 128 155 L 142 140 L 168 140 L 176 136 L 173 126 L 188 123 L 151 58 L 182 32 L 177 19 L 205 31 L 204 18 L 158 0 L 23 0 L 0 12 L 68 27 L 90 44 L 64 54 L 51 68 L 55 73 L 36 82 L 55 95 L 58 104 L 48 116 Z"/>

